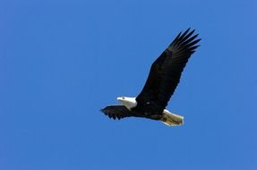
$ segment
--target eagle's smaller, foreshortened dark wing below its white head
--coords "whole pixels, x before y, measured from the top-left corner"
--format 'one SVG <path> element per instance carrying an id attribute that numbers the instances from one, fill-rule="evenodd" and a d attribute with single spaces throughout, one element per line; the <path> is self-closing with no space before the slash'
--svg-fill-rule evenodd
<path id="1" fill-rule="evenodd" d="M 134 116 L 125 106 L 106 106 L 101 112 L 113 119 Z"/>

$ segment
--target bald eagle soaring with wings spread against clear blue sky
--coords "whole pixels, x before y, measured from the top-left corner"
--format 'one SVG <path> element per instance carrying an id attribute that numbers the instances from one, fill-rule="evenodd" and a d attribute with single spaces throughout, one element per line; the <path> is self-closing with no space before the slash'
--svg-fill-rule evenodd
<path id="1" fill-rule="evenodd" d="M 101 109 L 113 119 L 124 117 L 144 117 L 158 120 L 168 126 L 184 123 L 184 117 L 166 109 L 169 98 L 179 83 L 181 73 L 190 56 L 200 45 L 201 38 L 194 35 L 194 30 L 180 32 L 167 49 L 158 56 L 150 67 L 148 79 L 136 98 L 116 98 L 121 105 L 106 106 Z M 197 39 L 196 39 L 197 38 Z"/>

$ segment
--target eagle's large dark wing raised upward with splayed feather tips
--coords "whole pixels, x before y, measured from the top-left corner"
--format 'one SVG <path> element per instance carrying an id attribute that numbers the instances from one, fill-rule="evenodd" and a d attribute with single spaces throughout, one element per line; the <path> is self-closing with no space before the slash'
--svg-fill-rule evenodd
<path id="1" fill-rule="evenodd" d="M 151 65 L 149 77 L 136 98 L 139 105 L 154 103 L 161 108 L 167 106 L 169 98 L 174 93 L 179 83 L 181 72 L 189 57 L 199 46 L 196 44 L 201 39 L 195 39 L 194 30 L 185 30 L 176 36 L 167 49 Z"/>

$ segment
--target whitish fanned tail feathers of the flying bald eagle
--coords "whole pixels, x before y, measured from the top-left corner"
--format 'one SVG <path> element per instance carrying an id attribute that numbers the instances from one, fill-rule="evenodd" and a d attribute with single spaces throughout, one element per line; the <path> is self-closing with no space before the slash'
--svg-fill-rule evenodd
<path id="1" fill-rule="evenodd" d="M 167 109 L 164 109 L 160 121 L 168 126 L 181 125 L 184 123 L 184 116 L 172 114 Z"/>

